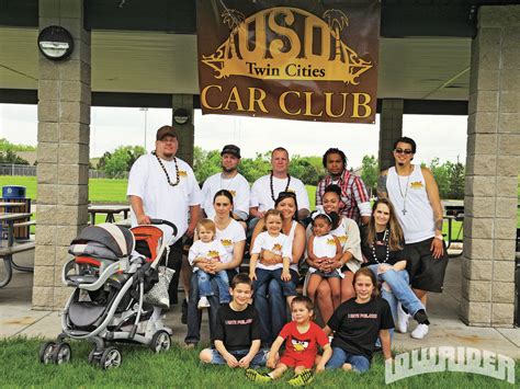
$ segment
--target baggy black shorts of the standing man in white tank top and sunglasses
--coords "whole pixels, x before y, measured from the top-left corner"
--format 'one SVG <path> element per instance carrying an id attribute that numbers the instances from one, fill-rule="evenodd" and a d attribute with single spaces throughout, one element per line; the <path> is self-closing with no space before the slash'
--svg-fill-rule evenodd
<path id="1" fill-rule="evenodd" d="M 430 251 L 430 238 L 421 242 L 405 244 L 406 270 L 410 275 L 410 285 L 414 289 L 442 293 L 444 274 L 448 265 L 448 251 L 444 243 L 444 254 L 436 260 Z"/>

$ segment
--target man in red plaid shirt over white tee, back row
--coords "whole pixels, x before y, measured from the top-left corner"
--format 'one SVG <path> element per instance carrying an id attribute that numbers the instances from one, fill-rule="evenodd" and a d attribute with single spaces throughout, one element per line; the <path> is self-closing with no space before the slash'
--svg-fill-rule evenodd
<path id="1" fill-rule="evenodd" d="M 336 148 L 328 149 L 323 159 L 328 174 L 318 182 L 316 205 L 323 205 L 325 188 L 335 184 L 341 188 L 340 214 L 361 225 L 366 225 L 372 214 L 369 193 L 360 176 L 347 169 L 347 157 Z"/>

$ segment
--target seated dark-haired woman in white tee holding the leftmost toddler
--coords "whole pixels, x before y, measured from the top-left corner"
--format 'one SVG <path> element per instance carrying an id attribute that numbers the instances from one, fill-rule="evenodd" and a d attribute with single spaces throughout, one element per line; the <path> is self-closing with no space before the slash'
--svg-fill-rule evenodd
<path id="1" fill-rule="evenodd" d="M 215 239 L 218 239 L 228 251 L 231 255 L 231 261 L 227 263 L 200 261 L 196 263 L 196 266 L 207 273 L 217 273 L 225 270 L 228 273 L 228 278 L 233 279 L 233 277 L 238 274 L 238 268 L 242 261 L 244 248 L 246 247 L 246 232 L 244 231 L 244 227 L 237 220 L 231 218 L 233 195 L 229 191 L 221 190 L 215 193 L 215 196 L 213 197 L 213 207 L 215 209 L 215 216 L 213 217 L 216 227 Z M 214 288 L 214 290 L 216 288 Z M 201 340 L 202 314 L 201 310 L 197 309 L 199 298 L 196 275 L 192 275 L 190 298 L 188 301 L 188 334 L 184 339 L 188 348 L 194 347 Z M 221 305 L 218 302 L 218 297 L 215 295 L 208 296 L 207 299 L 211 305 L 208 308 L 208 314 L 210 330 L 212 331 L 215 328 L 216 313 Z"/>

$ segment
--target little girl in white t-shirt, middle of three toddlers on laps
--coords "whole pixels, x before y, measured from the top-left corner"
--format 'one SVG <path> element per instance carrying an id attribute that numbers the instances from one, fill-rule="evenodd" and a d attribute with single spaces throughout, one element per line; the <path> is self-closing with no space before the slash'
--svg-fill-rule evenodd
<path id="1" fill-rule="evenodd" d="M 282 233 L 282 214 L 269 209 L 264 216 L 265 231 L 258 234 L 251 250 L 249 263 L 249 277 L 253 281 L 253 293 L 262 285 L 276 279 L 286 297 L 287 304 L 296 296 L 296 285 L 292 282 L 289 266 L 292 256 L 292 243 L 287 236 Z M 262 263 L 263 256 L 282 258 L 282 263 L 267 265 Z M 260 261 L 259 261 L 260 260 Z"/>

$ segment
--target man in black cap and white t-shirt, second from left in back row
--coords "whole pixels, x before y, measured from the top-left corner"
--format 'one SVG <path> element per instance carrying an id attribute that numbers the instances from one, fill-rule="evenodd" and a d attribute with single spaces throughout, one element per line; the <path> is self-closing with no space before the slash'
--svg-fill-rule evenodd
<path id="1" fill-rule="evenodd" d="M 222 149 L 222 172 L 206 179 L 202 186 L 202 209 L 207 218 L 213 219 L 215 208 L 213 197 L 221 190 L 229 191 L 233 195 L 233 218 L 246 221 L 249 216 L 249 183 L 238 172 L 240 163 L 240 148 L 235 145 L 226 145 Z"/>

